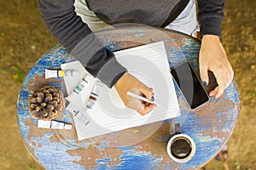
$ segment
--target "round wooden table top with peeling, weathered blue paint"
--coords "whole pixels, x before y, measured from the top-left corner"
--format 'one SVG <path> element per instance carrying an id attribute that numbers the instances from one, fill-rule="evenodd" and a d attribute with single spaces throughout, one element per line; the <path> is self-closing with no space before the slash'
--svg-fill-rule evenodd
<path id="1" fill-rule="evenodd" d="M 193 37 L 143 27 L 101 31 L 96 32 L 96 36 L 113 51 L 163 40 L 170 66 L 187 59 L 196 73 L 199 72 L 200 42 Z M 68 60 L 69 54 L 61 45 L 50 49 L 27 73 L 17 102 L 20 135 L 27 150 L 46 169 L 195 169 L 218 154 L 236 127 L 239 94 L 234 80 L 219 99 L 211 98 L 194 111 L 189 110 L 176 87 L 182 114 L 176 122 L 182 124 L 182 133 L 189 134 L 196 145 L 195 156 L 186 163 L 176 163 L 166 153 L 172 120 L 161 122 L 160 128 L 148 139 L 128 146 L 122 145 L 121 141 L 137 138 L 143 130 L 154 127 L 154 123 L 109 134 L 100 142 L 93 139 L 79 141 L 74 124 L 72 130 L 38 128 L 37 120 L 28 110 L 28 99 L 33 91 L 45 84 L 61 88 L 65 93 L 63 79 L 44 79 L 44 69 L 60 68 Z M 65 110 L 57 119 L 73 123 L 73 117 Z"/>

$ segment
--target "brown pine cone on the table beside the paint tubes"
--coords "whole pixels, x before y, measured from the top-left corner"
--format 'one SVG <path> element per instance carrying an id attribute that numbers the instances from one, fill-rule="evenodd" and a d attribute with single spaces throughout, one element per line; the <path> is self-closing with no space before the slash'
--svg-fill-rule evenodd
<path id="1" fill-rule="evenodd" d="M 32 94 L 29 99 L 29 111 L 41 120 L 51 120 L 64 109 L 63 94 L 53 86 L 44 86 Z"/>

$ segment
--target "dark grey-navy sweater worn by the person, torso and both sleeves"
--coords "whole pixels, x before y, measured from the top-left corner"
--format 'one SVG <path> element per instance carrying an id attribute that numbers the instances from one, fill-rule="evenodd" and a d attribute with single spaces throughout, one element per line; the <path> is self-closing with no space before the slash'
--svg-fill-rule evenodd
<path id="1" fill-rule="evenodd" d="M 177 16 L 186 0 L 87 0 L 88 7 L 108 24 L 137 22 L 148 26 L 164 26 L 168 17 Z M 90 28 L 76 14 L 74 0 L 38 0 L 41 17 L 67 51 L 84 65 L 94 77 L 109 88 L 126 69 L 112 52 L 102 48 Z M 120 5 L 121 4 L 121 5 Z M 179 7 L 180 6 L 180 7 Z M 132 8 L 131 8 L 132 7 Z M 224 18 L 224 0 L 198 0 L 201 37 L 220 36 Z M 173 18 L 174 20 L 174 18 Z"/>

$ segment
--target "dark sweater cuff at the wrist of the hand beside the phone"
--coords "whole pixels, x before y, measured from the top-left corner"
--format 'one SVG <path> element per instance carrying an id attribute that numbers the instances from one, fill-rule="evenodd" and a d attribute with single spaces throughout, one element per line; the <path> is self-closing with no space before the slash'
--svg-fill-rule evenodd
<path id="1" fill-rule="evenodd" d="M 221 36 L 222 18 L 219 17 L 204 17 L 201 19 L 200 37 L 204 35 Z"/>

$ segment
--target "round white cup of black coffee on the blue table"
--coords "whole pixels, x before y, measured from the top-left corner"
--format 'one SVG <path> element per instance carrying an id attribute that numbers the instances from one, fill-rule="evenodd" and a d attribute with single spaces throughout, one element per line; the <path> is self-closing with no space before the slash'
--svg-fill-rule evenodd
<path id="1" fill-rule="evenodd" d="M 180 148 L 177 149 L 177 147 Z M 166 150 L 173 161 L 184 163 L 189 161 L 195 155 L 195 141 L 187 134 L 175 134 L 169 140 Z M 177 156 L 175 150 L 186 150 L 186 153 L 179 153 L 179 156 Z"/>

